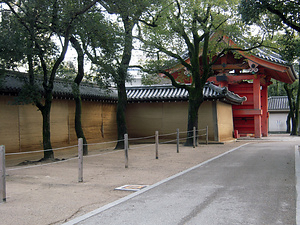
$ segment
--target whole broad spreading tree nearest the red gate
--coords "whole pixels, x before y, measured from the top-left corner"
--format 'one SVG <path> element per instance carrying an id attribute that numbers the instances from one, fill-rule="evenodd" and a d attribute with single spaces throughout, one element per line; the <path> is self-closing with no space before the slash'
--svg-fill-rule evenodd
<path id="1" fill-rule="evenodd" d="M 145 71 L 159 72 L 170 78 L 173 86 L 189 93 L 186 145 L 191 146 L 193 127 L 198 127 L 198 111 L 204 101 L 203 88 L 214 75 L 212 66 L 231 46 L 224 34 L 239 44 L 241 28 L 236 11 L 238 1 L 168 0 L 161 7 L 144 14 L 138 39 L 148 52 Z M 249 50 L 249 49 L 244 49 Z M 191 84 L 172 76 L 175 65 L 185 69 Z"/>

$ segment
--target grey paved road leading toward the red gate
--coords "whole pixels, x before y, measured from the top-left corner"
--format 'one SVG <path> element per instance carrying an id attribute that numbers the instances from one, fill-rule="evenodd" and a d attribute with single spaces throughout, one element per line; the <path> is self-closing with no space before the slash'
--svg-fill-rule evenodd
<path id="1" fill-rule="evenodd" d="M 68 224 L 296 224 L 296 144 L 252 142 Z"/>

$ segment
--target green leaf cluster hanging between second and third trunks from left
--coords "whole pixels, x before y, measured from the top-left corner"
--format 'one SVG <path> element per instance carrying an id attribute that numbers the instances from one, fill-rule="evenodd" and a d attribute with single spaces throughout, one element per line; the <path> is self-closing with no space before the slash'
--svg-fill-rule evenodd
<path id="1" fill-rule="evenodd" d="M 116 21 L 105 18 L 99 7 L 84 15 L 76 29 L 75 37 L 92 62 L 90 69 L 94 80 L 105 86 L 117 77 L 124 46 L 124 32 Z M 91 78 L 91 76 L 90 76 Z"/>

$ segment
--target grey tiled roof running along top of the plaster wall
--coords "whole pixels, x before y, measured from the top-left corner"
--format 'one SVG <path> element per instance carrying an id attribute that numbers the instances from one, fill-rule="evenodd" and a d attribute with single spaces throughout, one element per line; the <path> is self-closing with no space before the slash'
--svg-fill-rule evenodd
<path id="1" fill-rule="evenodd" d="M 1 82 L 0 93 L 17 95 L 27 80 L 25 74 L 8 74 Z M 73 98 L 72 82 L 56 79 L 54 82 L 53 96 L 56 98 Z M 38 82 L 42 87 L 42 80 Z M 42 88 L 41 88 L 42 91 Z M 153 85 L 128 87 L 126 89 L 128 102 L 162 102 L 162 101 L 187 101 L 188 91 L 183 88 L 175 88 L 172 85 Z M 100 89 L 95 84 L 81 83 L 80 93 L 82 99 L 118 100 L 117 91 L 109 92 Z M 226 87 L 218 87 L 213 83 L 207 83 L 203 89 L 204 100 L 220 100 L 229 104 L 242 104 L 246 98 L 229 91 Z"/>

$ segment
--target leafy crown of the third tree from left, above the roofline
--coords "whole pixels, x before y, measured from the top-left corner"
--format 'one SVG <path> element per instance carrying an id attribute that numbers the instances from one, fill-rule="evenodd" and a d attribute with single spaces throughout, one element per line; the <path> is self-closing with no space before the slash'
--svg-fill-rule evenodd
<path id="1" fill-rule="evenodd" d="M 99 2 L 102 7 L 85 15 L 78 35 L 93 63 L 98 83 L 122 84 L 130 80 L 127 69 L 133 49 L 133 28 L 151 1 Z"/>

